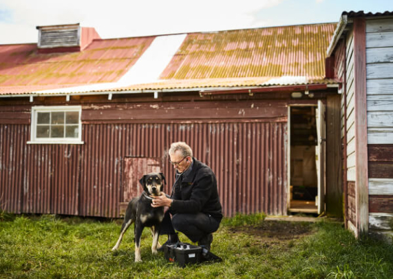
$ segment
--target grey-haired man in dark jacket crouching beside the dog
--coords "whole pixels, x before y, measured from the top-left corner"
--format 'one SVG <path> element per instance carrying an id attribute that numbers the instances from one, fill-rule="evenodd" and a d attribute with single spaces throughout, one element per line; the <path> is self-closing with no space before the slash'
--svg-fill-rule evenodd
<path id="1" fill-rule="evenodd" d="M 210 251 L 212 233 L 217 231 L 222 219 L 215 174 L 193 158 L 192 149 L 186 143 L 172 143 L 169 157 L 176 169 L 171 196 L 161 193 L 153 198 L 151 205 L 169 207 L 162 220 L 161 234 L 168 234 L 167 243 L 173 243 L 178 242 L 176 231 L 181 231 L 192 242 Z"/>

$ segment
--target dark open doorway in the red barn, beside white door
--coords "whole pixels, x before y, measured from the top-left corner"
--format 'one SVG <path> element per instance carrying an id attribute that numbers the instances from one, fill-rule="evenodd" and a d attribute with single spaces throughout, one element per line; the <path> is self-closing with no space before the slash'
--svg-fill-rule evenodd
<path id="1" fill-rule="evenodd" d="M 291 213 L 318 213 L 317 107 L 290 107 L 290 197 Z"/>

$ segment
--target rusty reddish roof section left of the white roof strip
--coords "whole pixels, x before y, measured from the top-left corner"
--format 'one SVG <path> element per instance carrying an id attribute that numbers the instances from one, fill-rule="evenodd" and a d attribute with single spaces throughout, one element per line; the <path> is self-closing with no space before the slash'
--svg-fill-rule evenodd
<path id="1" fill-rule="evenodd" d="M 35 44 L 0 45 L 0 86 L 23 86 L 28 92 L 53 85 L 114 82 L 136 63 L 153 39 L 98 39 L 82 52 L 56 54 L 37 54 Z"/>

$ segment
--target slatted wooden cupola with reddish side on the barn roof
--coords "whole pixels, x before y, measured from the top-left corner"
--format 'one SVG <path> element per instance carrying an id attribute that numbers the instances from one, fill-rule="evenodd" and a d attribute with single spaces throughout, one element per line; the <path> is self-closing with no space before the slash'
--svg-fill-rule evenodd
<path id="1" fill-rule="evenodd" d="M 94 28 L 81 27 L 79 23 L 37 26 L 39 53 L 80 52 L 94 39 L 101 39 Z"/>

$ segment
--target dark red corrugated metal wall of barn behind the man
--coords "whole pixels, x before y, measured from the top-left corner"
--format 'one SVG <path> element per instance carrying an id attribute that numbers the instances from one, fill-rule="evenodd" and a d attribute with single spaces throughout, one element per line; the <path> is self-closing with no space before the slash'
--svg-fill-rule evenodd
<path id="1" fill-rule="evenodd" d="M 262 121 L 85 124 L 84 145 L 26 145 L 29 125 L 0 125 L 0 203 L 18 213 L 117 217 L 127 201 L 125 157 L 162 158 L 170 192 L 167 149 L 186 141 L 215 172 L 226 216 L 286 214 L 286 130 Z"/>

